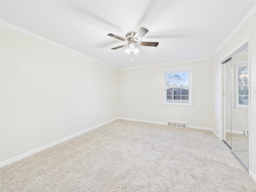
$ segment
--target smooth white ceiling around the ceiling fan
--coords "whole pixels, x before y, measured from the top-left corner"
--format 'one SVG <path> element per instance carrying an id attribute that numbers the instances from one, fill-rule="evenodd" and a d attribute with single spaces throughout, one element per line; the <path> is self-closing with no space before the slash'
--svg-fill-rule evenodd
<path id="1" fill-rule="evenodd" d="M 254 6 L 255 0 L 228 1 L 3 1 L 1 20 L 38 34 L 115 68 L 211 57 Z M 125 38 L 143 26 L 149 32 L 134 56 Z"/>

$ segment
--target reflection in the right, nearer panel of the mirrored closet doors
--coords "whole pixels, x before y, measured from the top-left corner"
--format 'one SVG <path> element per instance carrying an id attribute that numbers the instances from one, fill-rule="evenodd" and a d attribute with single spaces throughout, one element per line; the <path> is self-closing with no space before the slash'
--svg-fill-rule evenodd
<path id="1" fill-rule="evenodd" d="M 249 66 L 248 46 L 232 56 L 232 151 L 249 167 L 248 103 Z"/>

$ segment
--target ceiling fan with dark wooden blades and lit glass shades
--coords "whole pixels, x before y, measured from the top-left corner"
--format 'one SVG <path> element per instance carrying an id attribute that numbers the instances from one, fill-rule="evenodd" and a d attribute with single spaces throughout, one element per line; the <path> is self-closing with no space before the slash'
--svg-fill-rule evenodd
<path id="1" fill-rule="evenodd" d="M 158 42 L 137 42 L 138 40 L 140 40 L 146 33 L 148 32 L 148 30 L 144 27 L 141 27 L 138 32 L 128 32 L 126 33 L 126 39 L 119 37 L 117 35 L 114 35 L 112 33 L 108 34 L 108 36 L 110 37 L 114 37 L 118 40 L 121 41 L 125 41 L 128 42 L 128 44 L 126 45 L 121 45 L 121 46 L 117 46 L 111 49 L 119 49 L 122 47 L 127 47 L 126 50 L 124 52 L 126 52 L 127 54 L 130 54 L 130 52 L 137 54 L 140 52 L 140 50 L 138 49 L 138 45 L 140 46 L 152 46 L 152 47 L 157 47 L 158 46 Z M 133 59 L 132 59 L 133 61 Z"/>

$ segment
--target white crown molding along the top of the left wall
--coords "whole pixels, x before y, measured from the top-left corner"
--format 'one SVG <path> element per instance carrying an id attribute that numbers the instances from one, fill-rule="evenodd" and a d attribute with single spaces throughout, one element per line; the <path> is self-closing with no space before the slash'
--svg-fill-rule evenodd
<path id="1" fill-rule="evenodd" d="M 61 49 L 63 49 L 63 50 L 66 50 L 66 51 L 68 51 L 68 52 L 72 52 L 72 53 L 74 53 L 74 54 L 77 54 L 77 55 L 80 55 L 80 56 L 82 56 L 82 57 L 88 58 L 88 59 L 90 59 L 90 60 L 92 60 L 92 61 L 94 61 L 94 62 L 97 62 L 97 63 L 99 63 L 99 64 L 102 64 L 102 65 L 104 65 L 104 66 L 107 66 L 107 67 L 110 67 L 110 68 L 112 68 L 112 69 L 118 70 L 118 68 L 116 68 L 116 67 L 114 67 L 114 66 L 112 66 L 112 65 L 110 65 L 110 64 L 106 64 L 106 63 L 104 63 L 104 62 L 102 62 L 102 61 L 96 60 L 95 58 L 92 58 L 92 57 L 87 56 L 87 55 L 85 55 L 85 54 L 83 54 L 83 53 L 81 53 L 81 52 L 78 52 L 78 51 L 76 51 L 76 50 L 70 49 L 70 48 L 68 48 L 68 47 L 66 47 L 66 46 L 63 46 L 63 45 L 61 45 L 61 44 L 58 44 L 58 43 L 56 43 L 56 42 L 54 42 L 54 41 L 52 41 L 52 40 L 49 40 L 49 39 L 44 38 L 44 37 L 42 37 L 42 36 L 39 36 L 39 35 L 37 35 L 37 34 L 35 34 L 35 33 L 32 33 L 32 32 L 30 32 L 30 31 L 28 31 L 28 30 L 25 30 L 25 29 L 23 29 L 23 28 L 20 28 L 20 27 L 18 27 L 18 26 L 15 26 L 15 25 L 13 25 L 13 24 L 11 24 L 11 23 L 8 23 L 8 22 L 6 22 L 6 21 L 4 21 L 4 20 L 0 20 L 0 25 L 1 25 L 1 26 L 4 26 L 4 27 L 6 27 L 6 28 L 12 29 L 12 30 L 14 30 L 14 31 L 20 32 L 20 33 L 22 33 L 22 34 L 24 34 L 24 35 L 27 35 L 27 36 L 29 36 L 29 37 L 35 38 L 35 39 L 37 39 L 37 40 L 40 40 L 40 41 L 42 41 L 42 42 L 45 42 L 45 43 L 48 43 L 48 44 L 50 44 L 50 45 L 56 46 L 56 47 L 58 47 L 58 48 L 61 48 Z"/>

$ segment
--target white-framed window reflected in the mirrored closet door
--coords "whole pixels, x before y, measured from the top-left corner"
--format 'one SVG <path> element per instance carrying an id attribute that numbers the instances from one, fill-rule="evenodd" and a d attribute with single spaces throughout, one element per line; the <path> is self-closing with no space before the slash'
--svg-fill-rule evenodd
<path id="1" fill-rule="evenodd" d="M 236 108 L 248 108 L 249 68 L 248 61 L 236 62 Z"/>

